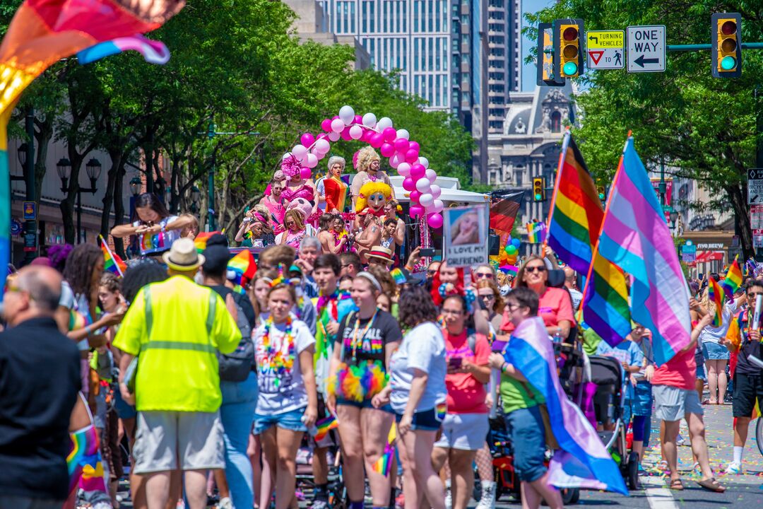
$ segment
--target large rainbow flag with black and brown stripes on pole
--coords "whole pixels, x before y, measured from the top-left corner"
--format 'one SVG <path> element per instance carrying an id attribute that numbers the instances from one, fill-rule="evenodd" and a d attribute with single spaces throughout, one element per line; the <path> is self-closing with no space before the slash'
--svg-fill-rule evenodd
<path id="1" fill-rule="evenodd" d="M 631 331 L 625 275 L 607 259 L 594 256 L 604 209 L 569 130 L 562 141 L 549 214 L 549 246 L 586 275 L 583 320 L 607 343 L 617 345 Z"/>

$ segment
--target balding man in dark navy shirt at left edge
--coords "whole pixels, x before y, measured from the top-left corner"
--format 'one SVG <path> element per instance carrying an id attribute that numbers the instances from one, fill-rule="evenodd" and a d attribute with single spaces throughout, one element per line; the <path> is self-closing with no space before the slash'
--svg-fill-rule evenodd
<path id="1" fill-rule="evenodd" d="M 53 314 L 61 276 L 27 266 L 5 283 L 0 333 L 0 507 L 60 509 L 69 495 L 69 417 L 79 352 Z"/>

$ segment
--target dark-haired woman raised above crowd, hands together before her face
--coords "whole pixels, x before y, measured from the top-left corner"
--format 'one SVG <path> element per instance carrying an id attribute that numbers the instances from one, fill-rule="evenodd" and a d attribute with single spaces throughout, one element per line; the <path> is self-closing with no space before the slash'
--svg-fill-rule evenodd
<path id="1" fill-rule="evenodd" d="M 119 224 L 111 229 L 111 237 L 121 239 L 137 235 L 141 256 L 155 255 L 169 250 L 182 230 L 192 224 L 188 217 L 169 214 L 159 197 L 144 192 L 135 198 L 132 223 Z"/>

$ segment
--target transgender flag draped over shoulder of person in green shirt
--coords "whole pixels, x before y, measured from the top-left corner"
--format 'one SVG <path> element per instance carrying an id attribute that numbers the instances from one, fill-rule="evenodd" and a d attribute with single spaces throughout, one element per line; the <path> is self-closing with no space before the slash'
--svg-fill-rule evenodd
<path id="1" fill-rule="evenodd" d="M 628 495 L 617 464 L 594 427 L 559 383 L 554 348 L 541 317 L 526 318 L 519 324 L 511 334 L 504 358 L 527 379 L 533 380 L 533 391 L 546 401 L 549 424 L 559 443 L 559 449 L 549 462 L 549 485 Z"/>

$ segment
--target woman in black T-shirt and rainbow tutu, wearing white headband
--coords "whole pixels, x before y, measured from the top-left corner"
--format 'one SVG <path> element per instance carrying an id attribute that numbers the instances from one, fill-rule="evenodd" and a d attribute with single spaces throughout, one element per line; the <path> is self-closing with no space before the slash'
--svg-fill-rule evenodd
<path id="1" fill-rule="evenodd" d="M 372 398 L 385 385 L 389 359 L 402 333 L 394 317 L 376 306 L 381 284 L 374 275 L 360 272 L 353 279 L 351 294 L 358 311 L 348 314 L 336 333 L 326 403 L 339 420 L 351 509 L 363 507 L 364 470 L 373 506 L 387 507 L 390 479 L 373 466 L 384 453 L 394 414 L 386 404 L 372 404 Z M 364 384 L 364 380 L 370 383 Z"/>

